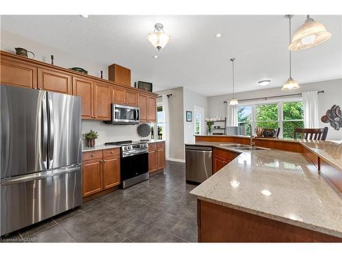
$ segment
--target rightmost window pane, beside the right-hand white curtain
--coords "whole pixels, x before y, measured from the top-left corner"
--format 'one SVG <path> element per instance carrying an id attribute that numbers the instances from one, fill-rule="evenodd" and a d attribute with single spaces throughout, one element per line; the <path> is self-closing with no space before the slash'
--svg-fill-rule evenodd
<path id="1" fill-rule="evenodd" d="M 292 138 L 296 127 L 304 127 L 303 102 L 282 103 L 282 137 Z"/>

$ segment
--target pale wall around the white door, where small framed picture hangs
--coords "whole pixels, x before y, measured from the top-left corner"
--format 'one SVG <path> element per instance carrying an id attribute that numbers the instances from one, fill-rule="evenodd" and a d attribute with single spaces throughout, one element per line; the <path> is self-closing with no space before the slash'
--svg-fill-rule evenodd
<path id="1" fill-rule="evenodd" d="M 205 118 L 207 117 L 207 97 L 200 95 L 192 90 L 183 88 L 183 120 L 184 120 L 184 143 L 194 143 L 194 106 L 205 110 Z M 192 122 L 186 121 L 186 111 L 192 111 Z M 207 126 L 203 126 L 205 131 Z"/>

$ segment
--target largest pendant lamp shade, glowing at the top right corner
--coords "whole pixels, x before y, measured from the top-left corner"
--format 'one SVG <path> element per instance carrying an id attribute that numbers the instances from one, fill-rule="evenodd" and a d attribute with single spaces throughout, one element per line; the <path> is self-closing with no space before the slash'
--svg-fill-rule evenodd
<path id="1" fill-rule="evenodd" d="M 293 34 L 289 49 L 291 51 L 307 49 L 326 42 L 331 37 L 331 33 L 326 31 L 322 23 L 314 21 L 310 15 L 306 16 L 306 21 L 298 27 Z"/>

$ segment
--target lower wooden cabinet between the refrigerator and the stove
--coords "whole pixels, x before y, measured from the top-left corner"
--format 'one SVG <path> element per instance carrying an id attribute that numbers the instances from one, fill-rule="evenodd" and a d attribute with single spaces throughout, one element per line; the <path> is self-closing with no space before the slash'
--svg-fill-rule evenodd
<path id="1" fill-rule="evenodd" d="M 120 184 L 119 148 L 85 152 L 82 158 L 83 197 Z"/>

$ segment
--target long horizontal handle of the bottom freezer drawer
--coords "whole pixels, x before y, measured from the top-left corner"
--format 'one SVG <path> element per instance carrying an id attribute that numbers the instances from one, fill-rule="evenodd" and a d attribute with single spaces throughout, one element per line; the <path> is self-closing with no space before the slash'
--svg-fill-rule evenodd
<path id="1" fill-rule="evenodd" d="M 31 173 L 27 175 L 19 175 L 13 178 L 6 178 L 1 180 L 1 186 L 7 186 L 9 184 L 18 184 L 23 182 L 28 182 L 32 180 L 43 180 L 45 178 L 53 177 L 55 175 L 62 175 L 64 173 L 72 173 L 79 171 L 81 169 L 81 164 L 73 165 L 70 167 L 64 167 L 61 169 L 55 169 L 52 171 L 42 171 L 38 173 Z"/>

